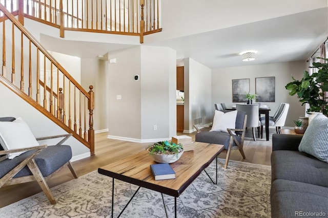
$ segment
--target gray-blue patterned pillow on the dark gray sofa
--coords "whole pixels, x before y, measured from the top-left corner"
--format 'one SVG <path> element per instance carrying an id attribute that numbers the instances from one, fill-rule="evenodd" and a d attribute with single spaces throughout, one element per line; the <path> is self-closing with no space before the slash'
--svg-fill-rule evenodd
<path id="1" fill-rule="evenodd" d="M 326 116 L 318 114 L 311 121 L 298 149 L 328 163 L 328 118 Z"/>

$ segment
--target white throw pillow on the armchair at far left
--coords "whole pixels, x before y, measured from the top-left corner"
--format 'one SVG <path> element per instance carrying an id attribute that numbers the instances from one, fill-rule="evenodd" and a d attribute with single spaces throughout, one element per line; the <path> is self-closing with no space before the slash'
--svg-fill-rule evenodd
<path id="1" fill-rule="evenodd" d="M 0 144 L 3 146 L 4 150 L 39 145 L 30 127 L 20 117 L 12 122 L 0 122 Z M 8 154 L 7 157 L 8 159 L 13 159 L 24 152 L 25 151 L 11 153 Z"/>

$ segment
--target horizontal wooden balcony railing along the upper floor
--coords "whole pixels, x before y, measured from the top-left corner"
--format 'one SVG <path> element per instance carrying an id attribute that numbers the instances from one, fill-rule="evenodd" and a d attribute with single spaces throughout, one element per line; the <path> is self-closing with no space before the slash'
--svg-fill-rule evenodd
<path id="1" fill-rule="evenodd" d="M 24 25 L 24 17 L 65 30 L 135 35 L 160 32 L 158 0 L 4 0 Z M 1 1 L 0 1 L 1 2 Z M 16 3 L 18 2 L 18 3 Z M 16 3 L 16 4 L 15 4 Z"/>

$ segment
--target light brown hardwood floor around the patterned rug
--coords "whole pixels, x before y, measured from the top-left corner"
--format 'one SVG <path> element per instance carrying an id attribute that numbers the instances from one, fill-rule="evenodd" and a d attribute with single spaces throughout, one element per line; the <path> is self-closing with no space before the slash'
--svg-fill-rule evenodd
<path id="1" fill-rule="evenodd" d="M 207 129 L 202 129 L 207 130 Z M 233 150 L 230 160 L 249 162 L 255 164 L 271 165 L 270 156 L 272 148 L 272 134 L 274 129 L 270 129 L 270 140 L 257 139 L 253 141 L 251 129 L 247 131 L 244 141 L 244 153 L 246 158 L 243 159 L 238 150 Z M 192 134 L 178 133 L 178 135 L 189 135 L 195 140 L 196 132 Z M 115 139 L 108 139 L 108 133 L 95 135 L 95 156 L 84 158 L 72 163 L 77 175 L 83 176 L 88 172 L 98 169 L 98 167 L 107 165 L 122 157 L 128 157 L 139 151 L 142 151 L 150 143 L 127 142 Z M 226 154 L 220 154 L 219 158 L 226 158 Z M 229 168 L 229 165 L 228 165 Z M 67 166 L 61 169 L 56 175 L 47 182 L 50 187 L 65 183 L 74 179 Z M 42 191 L 36 182 L 6 186 L 0 188 L 0 208 L 12 204 L 24 198 L 30 197 Z M 58 197 L 54 196 L 55 199 Z"/>

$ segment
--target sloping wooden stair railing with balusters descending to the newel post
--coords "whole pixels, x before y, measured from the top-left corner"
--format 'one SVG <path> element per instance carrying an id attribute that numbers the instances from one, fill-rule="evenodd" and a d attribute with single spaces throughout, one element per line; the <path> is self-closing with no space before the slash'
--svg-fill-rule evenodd
<path id="1" fill-rule="evenodd" d="M 94 155 L 93 86 L 89 92 L 83 89 L 2 4 L 0 15 L 0 82 L 72 133 Z"/>

